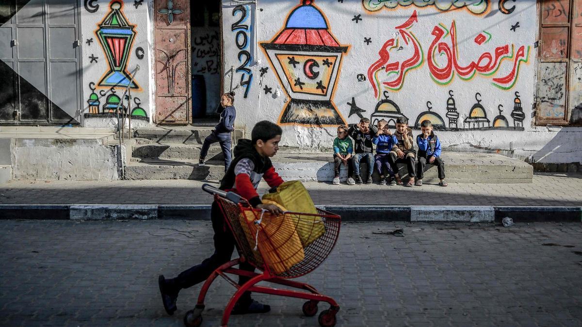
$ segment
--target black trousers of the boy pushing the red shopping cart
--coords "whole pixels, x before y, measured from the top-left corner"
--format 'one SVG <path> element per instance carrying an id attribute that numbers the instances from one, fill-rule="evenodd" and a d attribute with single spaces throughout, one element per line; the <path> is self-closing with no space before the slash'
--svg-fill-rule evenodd
<path id="1" fill-rule="evenodd" d="M 173 285 L 178 287 L 178 290 L 187 289 L 190 286 L 204 282 L 204 280 L 206 280 L 215 269 L 230 261 L 230 257 L 235 250 L 235 237 L 232 232 L 230 232 L 228 225 L 226 225 L 226 222 L 224 221 L 225 218 L 216 201 L 212 202 L 210 217 L 212 220 L 212 229 L 214 229 L 214 254 L 212 254 L 210 258 L 202 261 L 201 264 L 183 271 L 178 275 L 178 277 L 174 278 Z M 248 262 L 241 263 L 239 267 L 246 271 L 254 271 L 254 266 Z M 239 285 L 243 285 L 249 281 L 249 279 L 249 277 L 239 276 Z M 239 299 L 239 303 L 250 304 L 250 302 L 250 292 L 245 292 Z"/>

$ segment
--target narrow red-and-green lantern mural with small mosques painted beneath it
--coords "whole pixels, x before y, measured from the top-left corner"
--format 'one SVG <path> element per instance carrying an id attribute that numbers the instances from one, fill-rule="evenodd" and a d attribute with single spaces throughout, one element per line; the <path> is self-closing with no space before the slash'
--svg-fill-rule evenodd
<path id="1" fill-rule="evenodd" d="M 86 4 L 91 5 L 92 2 L 88 1 Z M 97 12 L 98 5 L 91 8 Z M 111 1 L 109 12 L 105 14 L 97 26 L 98 29 L 94 31 L 94 34 L 99 42 L 95 42 L 95 44 L 98 44 L 97 46 L 100 46 L 104 52 L 109 70 L 97 80 L 97 83 L 91 81 L 88 84 L 91 94 L 87 99 L 88 106 L 84 116 L 86 118 L 115 117 L 119 113 L 130 113 L 133 119 L 149 120 L 147 111 L 141 108 L 141 100 L 137 97 L 131 97 L 130 93 L 125 92 L 127 87 L 134 91 L 141 91 L 141 88 L 132 79 L 135 77 L 137 67 L 132 72 L 127 71 L 127 64 L 137 33 L 135 31 L 136 25 L 130 24 L 123 14 L 123 2 Z M 90 47 L 93 44 L 93 38 L 88 38 L 86 43 Z M 137 47 L 135 54 L 138 59 L 143 59 L 145 51 L 143 48 Z M 94 54 L 91 54 L 89 59 L 89 63 L 97 64 L 100 62 L 99 57 Z M 104 90 L 100 90 L 97 94 L 97 88 L 104 88 Z"/>

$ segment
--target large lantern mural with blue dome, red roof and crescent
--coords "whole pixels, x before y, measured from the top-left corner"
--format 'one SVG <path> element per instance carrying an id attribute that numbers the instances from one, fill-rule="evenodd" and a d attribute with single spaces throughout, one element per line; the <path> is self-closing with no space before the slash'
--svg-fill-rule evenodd
<path id="1" fill-rule="evenodd" d="M 321 9 L 303 0 L 270 42 L 262 42 L 279 82 L 290 97 L 280 124 L 336 126 L 346 123 L 332 101 L 348 45 L 333 37 Z"/>

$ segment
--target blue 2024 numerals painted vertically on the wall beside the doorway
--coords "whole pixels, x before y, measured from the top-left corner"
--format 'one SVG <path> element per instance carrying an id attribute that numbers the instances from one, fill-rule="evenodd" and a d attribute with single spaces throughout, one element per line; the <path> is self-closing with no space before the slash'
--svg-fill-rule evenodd
<path id="1" fill-rule="evenodd" d="M 253 59 L 251 56 L 250 49 L 250 27 L 249 24 L 245 24 L 251 15 L 249 5 L 240 5 L 232 9 L 232 16 L 240 16 L 240 18 L 232 23 L 230 30 L 235 33 L 235 44 L 239 49 L 237 58 L 239 59 L 240 66 L 236 67 L 235 72 L 240 73 L 240 83 L 239 85 L 244 88 L 243 97 L 247 98 L 249 96 L 249 90 L 251 84 L 253 83 L 253 71 L 250 69 L 250 63 Z M 233 72 L 233 74 L 235 73 Z M 232 84 L 232 81 L 231 81 Z"/>

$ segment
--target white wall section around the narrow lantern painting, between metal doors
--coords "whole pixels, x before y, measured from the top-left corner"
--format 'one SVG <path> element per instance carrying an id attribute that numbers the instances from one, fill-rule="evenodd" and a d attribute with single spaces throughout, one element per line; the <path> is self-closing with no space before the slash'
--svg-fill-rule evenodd
<path id="1" fill-rule="evenodd" d="M 114 127 L 117 125 L 117 120 L 112 117 L 112 115 L 107 115 L 102 113 L 102 106 L 107 100 L 107 95 L 101 95 L 102 92 L 109 90 L 109 86 L 100 86 L 99 82 L 106 73 L 109 72 L 110 67 L 107 61 L 107 56 L 105 54 L 105 49 L 100 44 L 98 35 L 96 31 L 99 29 L 99 25 L 102 20 L 111 12 L 111 1 L 96 0 L 90 1 L 88 8 L 84 6 L 85 1 L 80 1 L 81 10 L 81 48 L 82 48 L 82 67 L 83 67 L 83 112 L 88 113 L 90 111 L 89 104 L 87 100 L 90 98 L 93 91 L 90 88 L 90 83 L 95 83 L 95 94 L 99 96 L 100 106 L 99 113 L 97 115 L 88 115 L 83 120 L 83 126 L 86 127 Z M 152 0 L 143 0 L 141 2 L 134 2 L 129 0 L 119 0 L 118 3 L 122 3 L 120 12 L 125 16 L 127 23 L 134 26 L 133 31 L 136 32 L 133 44 L 129 49 L 129 59 L 126 65 L 126 72 L 130 73 L 137 65 L 140 69 L 134 77 L 139 88 L 132 88 L 132 97 L 137 97 L 137 103 L 144 109 L 147 113 L 147 118 L 136 118 L 132 119 L 132 127 L 140 127 L 150 125 L 152 121 L 152 115 L 154 114 L 154 83 L 152 83 L 154 78 L 154 72 L 152 69 L 152 45 L 153 45 L 153 27 L 152 27 Z M 91 6 L 93 3 L 93 6 Z M 141 3 L 135 6 L 136 3 Z M 98 8 L 97 8 L 98 6 Z M 95 12 L 89 12 L 88 10 L 95 10 Z M 91 40 L 92 39 L 92 40 Z M 87 41 L 90 40 L 90 43 Z M 92 42 L 91 42 L 92 41 Z M 136 53 L 136 49 L 141 47 L 143 52 Z M 143 54 L 143 58 L 138 58 L 138 55 Z M 97 57 L 97 62 L 91 62 L 91 56 Z M 125 91 L 125 87 L 117 87 L 116 94 L 121 96 Z M 124 102 L 127 105 L 127 101 Z M 132 99 L 131 109 L 133 111 L 136 108 L 136 100 Z M 126 123 L 127 125 L 127 123 Z"/>

